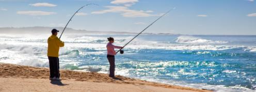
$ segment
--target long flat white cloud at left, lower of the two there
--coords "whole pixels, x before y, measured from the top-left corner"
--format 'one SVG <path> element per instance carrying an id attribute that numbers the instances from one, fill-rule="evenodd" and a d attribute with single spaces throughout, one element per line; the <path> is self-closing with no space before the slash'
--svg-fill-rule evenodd
<path id="1" fill-rule="evenodd" d="M 45 12 L 45 11 L 18 11 L 17 14 L 40 16 L 40 15 L 52 15 L 57 14 L 55 12 Z"/>

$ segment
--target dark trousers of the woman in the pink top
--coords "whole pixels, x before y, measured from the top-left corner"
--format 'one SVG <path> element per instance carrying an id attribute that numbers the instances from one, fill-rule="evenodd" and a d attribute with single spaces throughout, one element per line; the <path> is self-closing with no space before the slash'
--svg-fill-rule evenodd
<path id="1" fill-rule="evenodd" d="M 107 55 L 109 66 L 109 77 L 115 77 L 115 56 Z"/>

